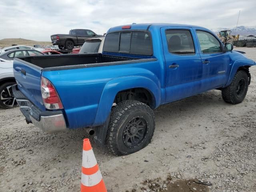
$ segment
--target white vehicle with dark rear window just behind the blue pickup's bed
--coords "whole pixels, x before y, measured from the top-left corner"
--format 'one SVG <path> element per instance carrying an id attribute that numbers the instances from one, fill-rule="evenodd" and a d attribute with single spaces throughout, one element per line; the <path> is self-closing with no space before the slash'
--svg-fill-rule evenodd
<path id="1" fill-rule="evenodd" d="M 79 54 L 82 53 L 102 53 L 105 37 L 86 39 Z"/>

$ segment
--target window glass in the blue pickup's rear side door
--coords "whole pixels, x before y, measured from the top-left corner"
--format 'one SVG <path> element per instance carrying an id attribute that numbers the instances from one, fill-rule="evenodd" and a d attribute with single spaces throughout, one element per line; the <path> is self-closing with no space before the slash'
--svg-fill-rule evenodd
<path id="1" fill-rule="evenodd" d="M 195 54 L 195 48 L 189 30 L 166 30 L 168 50 L 174 54 Z"/>

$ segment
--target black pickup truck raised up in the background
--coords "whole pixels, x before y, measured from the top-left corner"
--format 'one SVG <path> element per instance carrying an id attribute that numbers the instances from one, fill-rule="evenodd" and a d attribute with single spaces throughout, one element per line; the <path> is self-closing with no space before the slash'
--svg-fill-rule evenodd
<path id="1" fill-rule="evenodd" d="M 104 37 L 97 35 L 89 29 L 72 29 L 69 34 L 51 35 L 53 45 L 58 45 L 60 49 L 73 49 L 74 46 L 82 46 L 88 38 Z"/>

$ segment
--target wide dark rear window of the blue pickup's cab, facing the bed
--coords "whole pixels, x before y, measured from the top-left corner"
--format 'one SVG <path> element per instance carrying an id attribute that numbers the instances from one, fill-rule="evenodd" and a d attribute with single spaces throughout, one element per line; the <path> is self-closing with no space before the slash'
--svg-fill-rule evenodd
<path id="1" fill-rule="evenodd" d="M 148 32 L 114 32 L 106 35 L 104 52 L 152 55 L 152 41 Z"/>

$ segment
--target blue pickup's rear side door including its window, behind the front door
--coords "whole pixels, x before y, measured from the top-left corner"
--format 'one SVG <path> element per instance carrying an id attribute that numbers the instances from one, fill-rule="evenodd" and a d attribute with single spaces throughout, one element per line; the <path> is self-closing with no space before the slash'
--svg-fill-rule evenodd
<path id="1" fill-rule="evenodd" d="M 202 90 L 202 62 L 192 28 L 161 28 L 166 62 L 166 102 Z"/>

